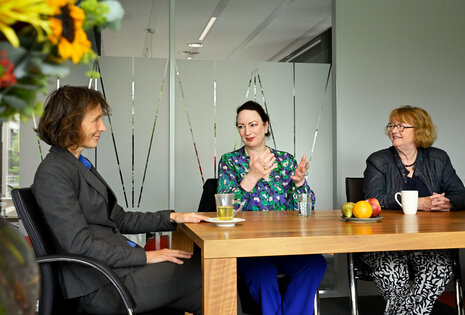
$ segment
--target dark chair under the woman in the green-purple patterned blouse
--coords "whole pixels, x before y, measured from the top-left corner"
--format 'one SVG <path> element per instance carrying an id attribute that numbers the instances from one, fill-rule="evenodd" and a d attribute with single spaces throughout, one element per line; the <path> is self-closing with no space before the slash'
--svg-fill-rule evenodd
<path id="1" fill-rule="evenodd" d="M 215 194 L 217 191 L 218 180 L 216 178 L 209 178 L 203 185 L 202 196 L 200 197 L 199 203 L 199 212 L 215 212 L 216 211 L 216 202 Z M 278 274 L 278 286 L 281 294 L 286 290 L 289 278 L 284 273 Z M 249 289 L 245 285 L 245 281 L 242 277 L 238 276 L 237 279 L 237 292 L 239 295 L 239 303 L 242 307 L 242 312 L 246 314 L 261 314 L 261 309 L 258 303 L 250 295 Z M 314 301 L 314 315 L 320 314 L 320 298 L 318 290 L 315 294 Z"/>

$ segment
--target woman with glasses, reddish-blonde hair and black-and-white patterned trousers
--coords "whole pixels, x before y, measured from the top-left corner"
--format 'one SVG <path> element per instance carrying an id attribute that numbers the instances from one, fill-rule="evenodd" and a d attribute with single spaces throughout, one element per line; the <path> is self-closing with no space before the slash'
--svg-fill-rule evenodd
<path id="1" fill-rule="evenodd" d="M 385 209 L 400 209 L 394 195 L 418 191 L 418 210 L 465 209 L 465 188 L 447 153 L 432 147 L 436 127 L 424 109 L 401 106 L 389 115 L 390 148 L 367 159 L 363 192 Z M 452 278 L 449 250 L 364 253 L 374 281 L 386 300 L 385 314 L 430 314 Z M 409 272 L 413 283 L 409 284 Z"/>

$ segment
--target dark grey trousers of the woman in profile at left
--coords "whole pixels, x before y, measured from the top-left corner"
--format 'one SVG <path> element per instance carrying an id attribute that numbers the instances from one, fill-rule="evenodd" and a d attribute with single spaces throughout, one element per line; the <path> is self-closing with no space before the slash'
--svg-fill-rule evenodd
<path id="1" fill-rule="evenodd" d="M 202 278 L 199 255 L 184 259 L 184 264 L 171 262 L 148 264 L 123 277 L 123 282 L 136 301 L 137 312 L 161 307 L 201 314 Z M 89 313 L 124 313 L 124 304 L 113 285 L 81 297 L 81 307 Z"/>

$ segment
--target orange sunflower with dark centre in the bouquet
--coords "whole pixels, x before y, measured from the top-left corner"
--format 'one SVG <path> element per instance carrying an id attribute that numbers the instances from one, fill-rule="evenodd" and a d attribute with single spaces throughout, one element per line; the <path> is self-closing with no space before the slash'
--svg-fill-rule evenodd
<path id="1" fill-rule="evenodd" d="M 91 43 L 82 28 L 86 15 L 72 0 L 48 2 L 57 8 L 49 19 L 52 29 L 49 39 L 52 44 L 58 45 L 58 54 L 63 60 L 71 58 L 74 63 L 78 63 L 91 50 Z"/>

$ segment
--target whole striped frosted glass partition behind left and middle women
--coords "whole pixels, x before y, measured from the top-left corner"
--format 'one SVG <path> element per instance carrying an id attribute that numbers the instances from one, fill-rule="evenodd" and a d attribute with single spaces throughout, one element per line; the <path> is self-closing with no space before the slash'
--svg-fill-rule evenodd
<path id="1" fill-rule="evenodd" d="M 161 94 L 157 125 L 150 157 L 147 155 L 158 99 L 164 78 L 166 60 L 149 58 L 100 58 L 107 100 L 112 108 L 108 131 L 100 139 L 95 160 L 94 150 L 86 155 L 114 190 L 119 203 L 128 209 L 154 211 L 168 207 L 169 190 L 169 106 L 168 82 Z M 253 70 L 256 70 L 248 99 L 266 104 L 278 150 L 309 156 L 318 114 L 323 100 L 329 65 L 289 63 L 251 63 L 218 61 L 177 61 L 175 108 L 175 209 L 197 210 L 204 179 L 214 177 L 219 158 L 234 147 L 242 146 L 235 128 L 236 108 L 244 103 Z M 88 85 L 79 69 L 61 84 Z M 134 77 L 134 102 L 132 78 Z M 295 78 L 294 78 L 295 77 Z M 258 81 L 261 80 L 261 85 Z M 182 92 L 179 85 L 182 85 Z M 216 82 L 216 156 L 214 137 L 214 82 Z M 295 82 L 295 86 L 294 86 Z M 52 82 L 50 90 L 55 89 Z M 102 86 L 99 82 L 98 88 Z M 263 88 L 263 91 L 261 90 Z M 328 87 L 328 91 L 331 86 Z M 295 107 L 294 107 L 295 93 Z M 263 98 L 265 97 L 265 99 Z M 190 125 L 186 114 L 190 118 Z M 294 112 L 295 108 L 295 112 Z M 294 118 L 295 117 L 295 118 Z M 134 125 L 133 125 L 134 119 Z M 40 163 L 37 143 L 30 124 L 22 129 L 21 182 L 32 183 Z M 134 130 L 133 130 L 134 126 Z M 295 126 L 295 127 L 294 127 Z M 116 159 L 115 146 L 119 157 Z M 295 140 L 294 140 L 295 128 Z M 193 133 L 194 139 L 192 139 Z M 310 165 L 309 182 L 317 195 L 318 209 L 332 208 L 332 100 L 327 93 L 320 122 L 318 141 Z M 134 137 L 133 137 L 134 134 Z M 197 153 L 193 142 L 195 141 Z M 295 145 L 294 145 L 295 141 Z M 274 147 L 273 141 L 267 144 Z M 43 144 L 44 154 L 48 147 Z M 296 150 L 296 152 L 294 152 Z M 197 160 L 198 156 L 198 160 Z M 25 164 L 27 163 L 27 165 Z M 146 164 L 147 163 L 147 164 Z M 146 177 L 138 207 L 144 170 Z M 24 169 L 23 169 L 24 167 Z M 26 170 L 26 174 L 24 172 Z M 122 178 L 122 179 L 121 179 Z M 122 185 L 124 182 L 124 186 Z M 126 196 L 123 191 L 126 192 Z"/>

